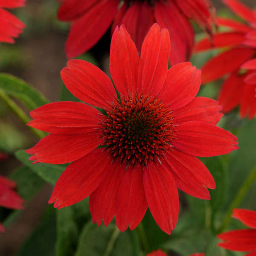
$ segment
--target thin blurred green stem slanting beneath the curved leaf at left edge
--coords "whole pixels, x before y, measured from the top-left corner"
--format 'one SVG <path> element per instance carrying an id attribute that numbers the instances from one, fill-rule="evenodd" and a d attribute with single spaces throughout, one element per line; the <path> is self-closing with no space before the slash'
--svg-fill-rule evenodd
<path id="1" fill-rule="evenodd" d="M 20 109 L 20 107 L 3 91 L 0 90 L 0 98 L 9 106 L 9 108 L 15 113 L 15 115 L 23 122 L 25 125 L 31 120 L 26 113 Z M 36 130 L 32 127 L 29 127 L 31 131 L 38 137 L 45 137 L 44 132 Z"/>

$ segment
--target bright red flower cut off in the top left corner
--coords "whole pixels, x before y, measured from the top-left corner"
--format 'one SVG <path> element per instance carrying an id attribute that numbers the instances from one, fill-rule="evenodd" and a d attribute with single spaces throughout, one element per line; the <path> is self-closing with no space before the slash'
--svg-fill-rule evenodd
<path id="1" fill-rule="evenodd" d="M 0 0 L 0 42 L 13 44 L 13 38 L 17 38 L 25 28 L 23 22 L 3 8 L 17 8 L 25 6 L 25 3 L 26 0 Z"/>

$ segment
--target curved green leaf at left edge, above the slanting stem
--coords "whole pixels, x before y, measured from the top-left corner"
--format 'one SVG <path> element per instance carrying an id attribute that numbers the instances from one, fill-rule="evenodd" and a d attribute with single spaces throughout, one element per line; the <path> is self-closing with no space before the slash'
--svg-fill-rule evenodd
<path id="1" fill-rule="evenodd" d="M 20 99 L 29 110 L 49 103 L 49 101 L 35 88 L 27 84 L 22 79 L 15 76 L 0 73 L 0 89 L 9 96 Z"/>

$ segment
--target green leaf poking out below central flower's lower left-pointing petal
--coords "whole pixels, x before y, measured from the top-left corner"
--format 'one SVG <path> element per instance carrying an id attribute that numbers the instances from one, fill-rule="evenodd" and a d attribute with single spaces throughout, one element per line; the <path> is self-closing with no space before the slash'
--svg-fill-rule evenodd
<path id="1" fill-rule="evenodd" d="M 43 180 L 55 185 L 56 181 L 64 171 L 64 167 L 58 165 L 52 165 L 48 163 L 35 163 L 29 160 L 30 155 L 25 150 L 19 150 L 15 152 L 15 156 L 24 165 L 29 167 L 33 172 L 40 176 Z"/>

